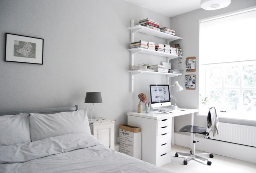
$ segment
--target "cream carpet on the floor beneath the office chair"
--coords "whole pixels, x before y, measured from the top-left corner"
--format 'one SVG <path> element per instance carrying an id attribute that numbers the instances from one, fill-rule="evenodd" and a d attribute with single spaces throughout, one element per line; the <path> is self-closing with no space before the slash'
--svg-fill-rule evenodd
<path id="1" fill-rule="evenodd" d="M 194 159 L 189 160 L 188 164 L 184 165 L 183 161 L 185 157 L 175 157 L 174 155 L 176 152 L 189 153 L 190 148 L 172 145 L 171 162 L 161 166 L 161 168 L 176 173 L 256 173 L 255 163 L 245 162 L 216 154 L 214 154 L 214 158 L 207 158 L 212 162 L 210 166 L 207 165 L 206 161 L 199 162 Z M 204 152 L 196 150 L 196 153 Z"/>

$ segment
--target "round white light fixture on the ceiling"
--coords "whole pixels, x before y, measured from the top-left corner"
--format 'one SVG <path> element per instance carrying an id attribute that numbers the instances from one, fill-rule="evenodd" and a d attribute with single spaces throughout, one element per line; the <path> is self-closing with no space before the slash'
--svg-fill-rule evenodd
<path id="1" fill-rule="evenodd" d="M 205 10 L 217 10 L 229 6 L 231 0 L 201 0 L 200 6 Z"/>

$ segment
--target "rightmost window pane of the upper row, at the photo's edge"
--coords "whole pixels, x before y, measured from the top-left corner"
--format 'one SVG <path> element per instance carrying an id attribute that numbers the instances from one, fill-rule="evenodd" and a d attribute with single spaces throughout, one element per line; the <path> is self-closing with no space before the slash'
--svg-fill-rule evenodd
<path id="1" fill-rule="evenodd" d="M 247 65 L 243 66 L 243 87 L 255 87 L 256 86 L 256 66 Z"/>

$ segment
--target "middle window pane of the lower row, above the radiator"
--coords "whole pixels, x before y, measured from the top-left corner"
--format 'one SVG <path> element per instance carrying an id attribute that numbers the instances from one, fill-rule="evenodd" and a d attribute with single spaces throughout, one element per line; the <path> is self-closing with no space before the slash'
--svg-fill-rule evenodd
<path id="1" fill-rule="evenodd" d="M 238 111 L 239 108 L 239 90 L 225 90 L 224 91 L 225 111 Z"/>

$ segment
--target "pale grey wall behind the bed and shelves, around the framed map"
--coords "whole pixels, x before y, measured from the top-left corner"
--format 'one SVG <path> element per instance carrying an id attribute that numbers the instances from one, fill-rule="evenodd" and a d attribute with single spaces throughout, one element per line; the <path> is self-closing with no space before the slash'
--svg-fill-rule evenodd
<path id="1" fill-rule="evenodd" d="M 101 92 L 101 116 L 127 122 L 149 84 L 165 83 L 160 76 L 137 75 L 130 92 L 130 20 L 170 18 L 122 0 L 1 0 L 0 110 L 66 107 L 79 104 L 86 92 Z M 44 64 L 5 62 L 5 33 L 44 38 Z M 136 34 L 135 40 L 165 43 Z M 150 40 L 149 40 L 150 39 Z M 138 56 L 136 63 L 156 64 L 165 58 Z M 94 117 L 98 117 L 97 106 Z M 116 141 L 116 139 L 115 139 Z M 116 141 L 117 142 L 117 141 Z"/>

